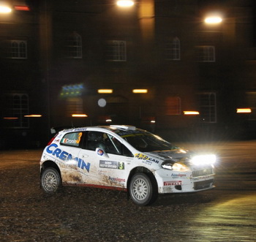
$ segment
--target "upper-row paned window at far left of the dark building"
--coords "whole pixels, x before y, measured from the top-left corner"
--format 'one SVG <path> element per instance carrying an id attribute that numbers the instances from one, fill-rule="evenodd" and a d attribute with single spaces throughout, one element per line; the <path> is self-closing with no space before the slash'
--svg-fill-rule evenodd
<path id="1" fill-rule="evenodd" d="M 27 43 L 26 40 L 11 40 L 8 51 L 9 58 L 26 59 Z"/>

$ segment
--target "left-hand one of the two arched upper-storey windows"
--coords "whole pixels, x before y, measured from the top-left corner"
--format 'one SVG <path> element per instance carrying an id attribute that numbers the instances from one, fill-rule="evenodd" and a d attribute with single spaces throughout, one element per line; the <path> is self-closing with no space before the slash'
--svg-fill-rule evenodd
<path id="1" fill-rule="evenodd" d="M 68 58 L 83 58 L 82 37 L 74 32 L 67 38 L 66 50 Z"/>

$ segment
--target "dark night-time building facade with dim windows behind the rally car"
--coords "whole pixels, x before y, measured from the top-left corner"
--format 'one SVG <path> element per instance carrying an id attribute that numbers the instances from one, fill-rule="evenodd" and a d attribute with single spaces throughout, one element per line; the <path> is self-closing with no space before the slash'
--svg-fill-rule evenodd
<path id="1" fill-rule="evenodd" d="M 1 147 L 37 147 L 52 127 L 98 124 L 173 139 L 252 134 L 255 1 L 6 2 Z M 222 23 L 204 22 L 213 13 Z"/>

